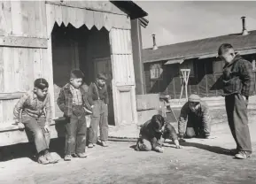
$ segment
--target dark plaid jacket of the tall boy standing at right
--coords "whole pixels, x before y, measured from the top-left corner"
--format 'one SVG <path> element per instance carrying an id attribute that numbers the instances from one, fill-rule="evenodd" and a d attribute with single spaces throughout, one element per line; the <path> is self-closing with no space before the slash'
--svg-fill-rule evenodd
<path id="1" fill-rule="evenodd" d="M 223 96 L 241 94 L 242 96 L 252 96 L 254 87 L 254 75 L 252 64 L 237 55 L 230 64 L 223 67 L 221 76 L 223 83 Z"/>

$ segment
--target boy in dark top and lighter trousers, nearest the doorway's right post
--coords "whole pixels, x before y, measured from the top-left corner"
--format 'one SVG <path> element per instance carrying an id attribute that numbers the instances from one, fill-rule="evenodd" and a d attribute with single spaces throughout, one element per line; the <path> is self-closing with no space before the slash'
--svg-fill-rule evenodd
<path id="1" fill-rule="evenodd" d="M 100 129 L 100 140 L 103 147 L 107 147 L 108 138 L 108 92 L 104 73 L 98 73 L 95 82 L 88 88 L 88 101 L 92 108 L 92 118 L 89 126 L 89 146 L 93 148 L 97 143 L 97 127 Z"/>

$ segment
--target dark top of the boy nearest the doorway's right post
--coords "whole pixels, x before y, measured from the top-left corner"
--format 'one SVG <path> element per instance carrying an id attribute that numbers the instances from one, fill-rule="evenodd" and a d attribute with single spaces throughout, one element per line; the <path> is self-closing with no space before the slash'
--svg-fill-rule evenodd
<path id="1" fill-rule="evenodd" d="M 108 92 L 106 85 L 103 88 L 98 88 L 97 82 L 92 82 L 88 88 L 88 101 L 93 105 L 93 101 L 102 100 L 105 104 L 109 103 Z"/>

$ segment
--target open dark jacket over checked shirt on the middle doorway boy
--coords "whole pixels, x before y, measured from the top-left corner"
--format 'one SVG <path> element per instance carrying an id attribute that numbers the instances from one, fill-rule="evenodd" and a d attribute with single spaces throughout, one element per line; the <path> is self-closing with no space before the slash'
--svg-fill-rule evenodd
<path id="1" fill-rule="evenodd" d="M 82 105 L 89 109 L 91 111 L 91 107 L 88 103 L 88 96 L 83 88 L 80 88 L 81 91 L 81 99 L 82 99 Z M 70 84 L 67 83 L 63 88 L 60 89 L 59 95 L 58 95 L 58 107 L 61 111 L 64 112 L 64 115 L 66 117 L 71 117 L 73 114 L 73 105 L 72 105 L 73 96 L 70 90 Z"/>

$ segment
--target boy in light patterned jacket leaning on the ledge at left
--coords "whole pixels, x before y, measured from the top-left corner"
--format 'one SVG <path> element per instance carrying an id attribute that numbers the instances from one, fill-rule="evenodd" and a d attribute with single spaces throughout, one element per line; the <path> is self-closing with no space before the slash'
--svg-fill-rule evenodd
<path id="1" fill-rule="evenodd" d="M 25 126 L 33 133 L 38 153 L 37 161 L 43 165 L 58 162 L 49 152 L 52 107 L 48 88 L 49 84 L 45 79 L 35 80 L 34 90 L 22 96 L 13 110 L 14 120 L 19 128 Z"/>

